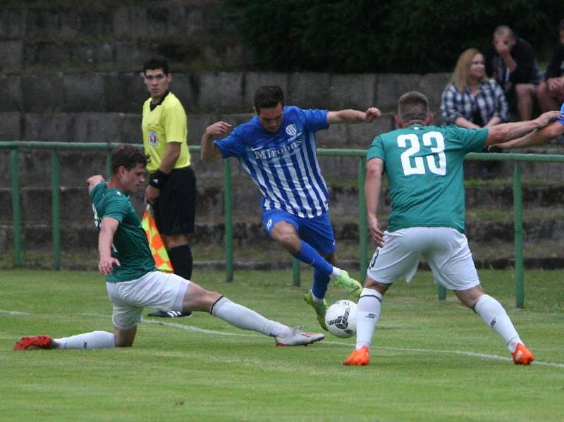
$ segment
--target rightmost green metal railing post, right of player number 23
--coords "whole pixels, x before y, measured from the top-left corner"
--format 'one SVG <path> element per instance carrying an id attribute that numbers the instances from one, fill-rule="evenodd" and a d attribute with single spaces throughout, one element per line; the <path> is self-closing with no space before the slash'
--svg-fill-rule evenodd
<path id="1" fill-rule="evenodd" d="M 517 308 L 525 306 L 524 271 L 523 271 L 523 201 L 521 170 L 519 161 L 515 161 L 513 173 L 513 213 L 515 230 L 515 298 Z"/>

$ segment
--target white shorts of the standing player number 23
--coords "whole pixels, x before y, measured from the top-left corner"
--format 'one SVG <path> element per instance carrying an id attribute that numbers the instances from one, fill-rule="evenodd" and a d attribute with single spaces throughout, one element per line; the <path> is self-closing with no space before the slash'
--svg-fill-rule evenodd
<path id="1" fill-rule="evenodd" d="M 384 233 L 384 247 L 374 252 L 367 275 L 391 284 L 398 277 L 409 283 L 419 259 L 427 259 L 435 283 L 450 290 L 480 284 L 466 236 L 448 227 L 414 227 Z"/>

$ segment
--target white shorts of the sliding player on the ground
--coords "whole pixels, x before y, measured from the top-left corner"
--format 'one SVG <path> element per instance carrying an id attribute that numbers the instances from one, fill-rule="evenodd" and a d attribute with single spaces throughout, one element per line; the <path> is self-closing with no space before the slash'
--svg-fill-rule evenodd
<path id="1" fill-rule="evenodd" d="M 141 321 L 145 306 L 162 311 L 182 311 L 184 294 L 190 281 L 176 274 L 151 271 L 137 280 L 106 283 L 114 327 L 130 330 Z"/>

